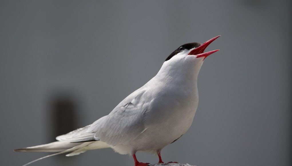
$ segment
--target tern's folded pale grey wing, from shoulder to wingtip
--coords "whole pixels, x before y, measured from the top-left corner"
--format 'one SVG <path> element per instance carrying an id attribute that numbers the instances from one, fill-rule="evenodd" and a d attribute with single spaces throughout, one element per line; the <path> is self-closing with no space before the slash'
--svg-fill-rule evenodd
<path id="1" fill-rule="evenodd" d="M 141 89 L 134 91 L 109 115 L 101 117 L 93 124 L 57 136 L 56 139 L 68 142 L 101 140 L 112 146 L 135 139 L 145 130 L 143 117 L 149 103 L 140 101 L 145 91 Z"/>

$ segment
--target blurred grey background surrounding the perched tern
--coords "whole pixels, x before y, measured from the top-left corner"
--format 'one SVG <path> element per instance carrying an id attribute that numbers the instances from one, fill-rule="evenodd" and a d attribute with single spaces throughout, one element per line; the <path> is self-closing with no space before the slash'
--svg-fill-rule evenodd
<path id="1" fill-rule="evenodd" d="M 199 108 L 164 161 L 197 166 L 291 165 L 291 1 L 1 1 L 1 165 L 48 153 L 107 115 L 181 44 L 221 35 L 206 51 Z M 138 153 L 141 162 L 157 156 Z M 134 165 L 111 149 L 32 165 Z"/>

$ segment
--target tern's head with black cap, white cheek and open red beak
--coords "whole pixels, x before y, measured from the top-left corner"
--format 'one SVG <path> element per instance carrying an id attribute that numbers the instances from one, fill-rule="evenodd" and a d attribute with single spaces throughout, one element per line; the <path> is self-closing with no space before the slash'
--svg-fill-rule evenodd
<path id="1" fill-rule="evenodd" d="M 164 61 L 159 73 L 167 75 L 191 74 L 197 77 L 205 58 L 219 50 L 204 52 L 209 44 L 220 36 L 214 37 L 203 44 L 187 43 L 179 46 Z"/>

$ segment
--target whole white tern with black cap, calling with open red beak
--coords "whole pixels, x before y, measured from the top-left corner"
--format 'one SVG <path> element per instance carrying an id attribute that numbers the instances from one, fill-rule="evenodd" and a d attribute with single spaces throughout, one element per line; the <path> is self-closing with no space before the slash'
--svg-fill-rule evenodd
<path id="1" fill-rule="evenodd" d="M 109 115 L 57 136 L 56 142 L 14 151 L 57 152 L 43 157 L 46 158 L 112 148 L 120 154 L 132 155 L 135 166 L 149 164 L 138 162 L 137 151 L 157 153 L 162 163 L 162 148 L 179 139 L 192 124 L 198 107 L 199 70 L 207 56 L 219 51 L 204 53 L 204 50 L 218 37 L 203 44 L 195 42 L 178 47 L 166 58 L 156 76 L 127 96 Z"/>

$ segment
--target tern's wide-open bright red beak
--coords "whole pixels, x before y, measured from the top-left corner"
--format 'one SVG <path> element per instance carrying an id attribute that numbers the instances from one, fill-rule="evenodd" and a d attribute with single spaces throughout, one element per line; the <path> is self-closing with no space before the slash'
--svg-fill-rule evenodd
<path id="1" fill-rule="evenodd" d="M 214 50 L 214 51 L 209 51 L 209 52 L 204 53 L 207 46 L 211 44 L 218 37 L 220 37 L 220 35 L 208 40 L 207 42 L 203 43 L 201 46 L 193 49 L 188 55 L 195 55 L 197 56 L 197 58 L 204 57 L 205 59 L 207 56 L 211 55 L 212 53 L 219 51 L 219 50 Z"/>

